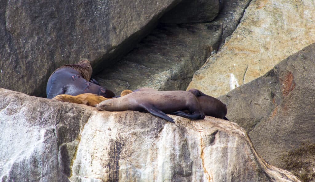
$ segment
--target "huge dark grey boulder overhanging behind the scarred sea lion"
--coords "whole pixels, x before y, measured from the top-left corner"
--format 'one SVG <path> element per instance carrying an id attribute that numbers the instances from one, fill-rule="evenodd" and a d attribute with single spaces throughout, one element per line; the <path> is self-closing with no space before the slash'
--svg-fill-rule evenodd
<path id="1" fill-rule="evenodd" d="M 180 0 L 0 1 L 0 86 L 45 96 L 50 74 L 87 58 L 94 72 L 126 54 Z"/>

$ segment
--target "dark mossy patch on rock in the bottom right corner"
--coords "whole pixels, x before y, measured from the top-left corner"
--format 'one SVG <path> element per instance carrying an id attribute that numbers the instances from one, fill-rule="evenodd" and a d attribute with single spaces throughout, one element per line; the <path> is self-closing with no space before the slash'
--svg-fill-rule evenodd
<path id="1" fill-rule="evenodd" d="M 282 157 L 284 168 L 303 182 L 315 181 L 315 144 L 309 141 Z"/>

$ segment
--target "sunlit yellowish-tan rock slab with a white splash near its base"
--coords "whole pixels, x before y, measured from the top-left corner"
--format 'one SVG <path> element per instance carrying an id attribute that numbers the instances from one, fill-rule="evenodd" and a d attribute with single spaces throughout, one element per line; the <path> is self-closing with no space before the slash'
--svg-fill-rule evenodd
<path id="1" fill-rule="evenodd" d="M 314 8 L 312 0 L 251 1 L 235 32 L 194 74 L 188 89 L 218 97 L 314 43 Z"/>

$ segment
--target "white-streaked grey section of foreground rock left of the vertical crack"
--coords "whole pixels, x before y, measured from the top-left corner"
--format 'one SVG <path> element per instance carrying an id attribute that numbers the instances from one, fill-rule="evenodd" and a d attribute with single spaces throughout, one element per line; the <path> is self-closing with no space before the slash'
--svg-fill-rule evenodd
<path id="1" fill-rule="evenodd" d="M 0 88 L 0 181 L 68 181 L 87 109 Z"/>

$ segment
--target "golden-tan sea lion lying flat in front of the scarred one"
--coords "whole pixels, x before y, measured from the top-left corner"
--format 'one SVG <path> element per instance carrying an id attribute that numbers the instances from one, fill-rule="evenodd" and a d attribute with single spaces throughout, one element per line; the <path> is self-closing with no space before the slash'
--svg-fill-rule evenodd
<path id="1" fill-rule="evenodd" d="M 92 94 L 92 93 L 85 93 L 85 94 L 79 94 L 77 96 L 60 94 L 52 99 L 62 101 L 62 102 L 67 102 L 67 103 L 84 104 L 84 105 L 95 107 L 96 104 L 102 101 L 105 101 L 108 98 L 105 98 L 100 95 Z"/>

